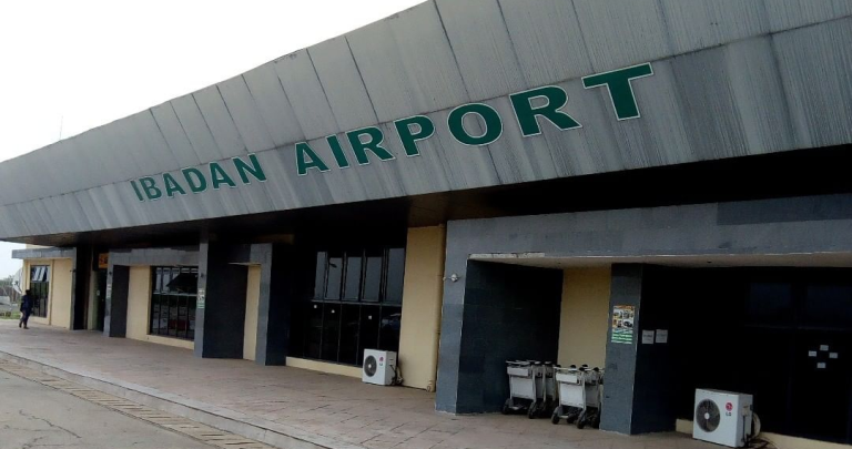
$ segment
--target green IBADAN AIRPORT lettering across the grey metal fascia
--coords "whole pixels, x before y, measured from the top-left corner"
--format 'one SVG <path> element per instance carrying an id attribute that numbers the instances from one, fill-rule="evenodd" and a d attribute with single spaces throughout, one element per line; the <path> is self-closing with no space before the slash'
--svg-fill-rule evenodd
<path id="1" fill-rule="evenodd" d="M 584 89 L 605 88 L 606 94 L 609 95 L 609 100 L 612 103 L 612 109 L 618 120 L 628 120 L 639 118 L 639 106 L 637 105 L 637 99 L 633 93 L 633 80 L 650 76 L 653 74 L 650 63 L 643 63 L 632 65 L 623 69 L 611 70 L 605 73 L 596 73 L 582 78 Z M 571 83 L 574 85 L 574 83 Z M 577 88 L 579 89 L 579 88 Z M 604 92 L 601 92 L 604 93 Z M 592 94 L 591 96 L 597 96 Z M 531 137 L 540 135 L 544 127 L 556 126 L 560 131 L 568 131 L 582 125 L 574 119 L 571 114 L 562 111 L 568 104 L 568 93 L 562 86 L 559 85 L 545 85 L 535 89 L 529 89 L 523 92 L 516 92 L 508 95 L 508 101 L 511 104 L 511 111 L 505 108 L 506 96 L 495 99 L 495 104 L 500 105 L 500 111 L 505 113 L 514 113 L 518 123 L 518 129 L 523 137 Z M 572 114 L 580 114 L 581 104 L 571 103 Z M 420 105 L 417 105 L 420 108 Z M 433 112 L 433 116 L 444 113 L 443 111 Z M 474 115 L 474 116 L 468 116 Z M 489 145 L 500 139 L 504 131 L 503 120 L 510 120 L 506 116 L 500 116 L 495 106 L 485 103 L 467 103 L 462 104 L 447 114 L 446 124 L 440 132 L 444 132 L 442 136 L 445 141 L 439 142 L 440 145 L 447 145 L 448 147 L 458 147 L 457 144 L 468 146 L 483 146 Z M 353 161 L 349 160 L 355 156 L 354 162 L 358 165 L 367 165 L 372 160 L 378 159 L 379 161 L 392 161 L 396 159 L 395 153 L 388 151 L 388 147 L 395 149 L 396 152 L 405 154 L 409 157 L 419 156 L 419 144 L 429 137 L 436 135 L 436 123 L 425 112 L 419 112 L 418 115 L 412 115 L 393 121 L 398 142 L 392 142 L 388 144 L 385 142 L 386 135 L 383 132 L 383 127 L 379 125 L 365 126 L 348 132 L 335 132 L 326 135 L 324 141 L 327 147 L 318 149 L 325 157 L 329 155 L 334 157 L 334 163 L 338 169 L 348 169 L 352 166 Z M 550 124 L 547 124 L 550 123 Z M 385 124 L 389 126 L 389 124 Z M 467 125 L 467 126 L 466 126 Z M 452 140 L 446 140 L 446 131 L 449 131 Z M 514 130 L 510 130 L 514 132 Z M 345 137 L 343 137 L 345 136 Z M 389 139 L 389 137 L 388 137 Z M 534 137 L 535 139 L 535 137 Z M 312 140 L 314 145 L 323 145 L 321 139 Z M 346 144 L 352 149 L 346 147 Z M 396 150 L 402 145 L 402 151 Z M 511 146 L 517 146 L 518 142 L 511 142 Z M 390 146 L 388 146 L 390 145 Z M 296 173 L 300 176 L 307 175 L 311 169 L 314 169 L 321 173 L 328 172 L 328 164 L 320 156 L 320 153 L 314 151 L 311 143 L 297 142 L 295 143 L 295 156 L 296 156 Z M 277 155 L 276 152 L 281 149 L 266 150 L 272 155 Z M 476 151 L 476 150 L 469 150 Z M 327 153 L 327 152 L 331 152 Z M 372 155 L 369 154 L 372 153 Z M 429 157 L 437 157 L 436 154 L 427 154 Z M 247 159 L 246 159 L 247 157 Z M 273 156 L 274 157 L 274 156 Z M 452 156 L 448 156 L 452 157 Z M 207 167 L 186 167 L 182 169 L 183 176 L 174 173 L 162 173 L 155 176 L 144 176 L 136 180 L 131 180 L 130 185 L 133 187 L 133 193 L 139 201 L 152 201 L 163 196 L 175 197 L 178 195 L 186 195 L 187 193 L 202 193 L 207 190 L 207 185 L 212 185 L 217 190 L 222 185 L 230 187 L 236 187 L 236 180 L 232 174 L 236 173 L 243 184 L 251 184 L 252 181 L 264 182 L 267 180 L 267 175 L 273 175 L 261 165 L 261 160 L 255 154 L 248 154 L 247 156 L 231 157 L 231 162 L 234 165 L 235 172 L 226 170 L 226 163 L 222 161 L 204 162 Z M 203 164 L 204 164 L 203 163 Z M 446 161 L 445 163 L 450 163 Z M 202 165 L 202 164 L 200 164 Z M 284 174 L 290 175 L 290 173 Z M 210 176 L 210 178 L 207 178 Z M 158 184 L 158 180 L 162 178 L 163 185 Z M 185 184 L 184 184 L 185 181 Z M 187 188 L 189 187 L 189 188 Z M 129 194 L 130 192 L 128 192 Z"/>

